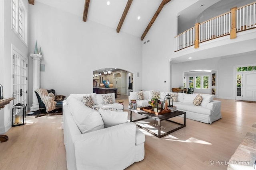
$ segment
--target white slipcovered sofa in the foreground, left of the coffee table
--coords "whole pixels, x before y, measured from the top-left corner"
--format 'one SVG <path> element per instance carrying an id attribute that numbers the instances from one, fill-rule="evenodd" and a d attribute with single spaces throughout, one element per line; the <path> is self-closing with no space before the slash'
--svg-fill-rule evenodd
<path id="1" fill-rule="evenodd" d="M 63 101 L 68 170 L 122 170 L 144 159 L 145 135 L 127 122 L 128 112 L 96 111 L 78 98 Z"/>

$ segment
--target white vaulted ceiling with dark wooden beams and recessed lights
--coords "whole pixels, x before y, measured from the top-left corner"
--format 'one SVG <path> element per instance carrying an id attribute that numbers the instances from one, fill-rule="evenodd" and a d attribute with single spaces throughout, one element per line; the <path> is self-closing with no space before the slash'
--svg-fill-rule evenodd
<path id="1" fill-rule="evenodd" d="M 164 5 L 171 0 L 28 0 L 43 3 L 144 39 Z M 140 19 L 138 19 L 140 17 Z"/>

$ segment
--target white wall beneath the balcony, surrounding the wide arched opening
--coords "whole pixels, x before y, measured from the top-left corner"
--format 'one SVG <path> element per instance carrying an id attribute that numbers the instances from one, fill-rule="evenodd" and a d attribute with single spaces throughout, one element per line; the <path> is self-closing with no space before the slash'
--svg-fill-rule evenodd
<path id="1" fill-rule="evenodd" d="M 256 53 L 248 53 L 236 57 L 216 57 L 172 64 L 172 86 L 181 86 L 181 84 L 183 84 L 183 73 L 188 70 L 216 70 L 216 97 L 234 100 L 234 83 L 236 83 L 234 80 L 234 66 L 250 63 L 255 64 L 255 54 Z"/>

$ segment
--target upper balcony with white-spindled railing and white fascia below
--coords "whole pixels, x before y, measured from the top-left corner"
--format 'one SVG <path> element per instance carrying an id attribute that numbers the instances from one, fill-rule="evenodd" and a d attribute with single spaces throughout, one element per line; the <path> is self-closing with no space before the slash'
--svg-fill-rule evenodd
<path id="1" fill-rule="evenodd" d="M 177 35 L 176 62 L 182 58 L 206 58 L 256 51 L 256 2 L 231 8 Z M 178 59 L 178 58 L 179 59 Z"/>

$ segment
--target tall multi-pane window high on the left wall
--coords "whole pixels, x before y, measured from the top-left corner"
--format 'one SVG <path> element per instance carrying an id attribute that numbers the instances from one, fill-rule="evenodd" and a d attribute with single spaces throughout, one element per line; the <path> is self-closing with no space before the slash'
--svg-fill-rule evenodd
<path id="1" fill-rule="evenodd" d="M 27 43 L 26 38 L 26 15 L 22 0 L 12 0 L 12 29 Z"/>

